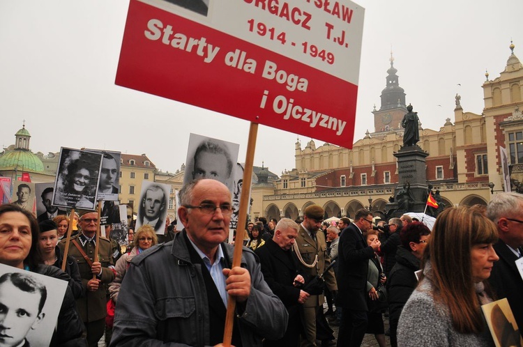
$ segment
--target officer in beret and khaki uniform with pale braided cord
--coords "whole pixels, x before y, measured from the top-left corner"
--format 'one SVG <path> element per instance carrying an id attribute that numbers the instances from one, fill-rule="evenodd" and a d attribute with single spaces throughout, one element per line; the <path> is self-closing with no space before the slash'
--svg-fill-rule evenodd
<path id="1" fill-rule="evenodd" d="M 305 275 L 305 284 L 316 275 L 321 275 L 331 264 L 327 255 L 327 244 L 323 232 L 317 233 L 324 220 L 324 209 L 318 205 L 305 208 L 303 222 L 296 237 L 296 245 L 300 252 L 300 272 Z M 365 274 L 365 278 L 366 274 Z M 334 270 L 331 268 L 324 276 L 329 291 L 338 291 Z M 305 336 L 301 341 L 302 347 L 316 346 L 316 315 L 324 304 L 324 295 L 310 295 L 303 304 L 303 325 Z"/>

